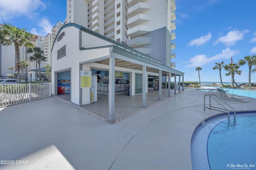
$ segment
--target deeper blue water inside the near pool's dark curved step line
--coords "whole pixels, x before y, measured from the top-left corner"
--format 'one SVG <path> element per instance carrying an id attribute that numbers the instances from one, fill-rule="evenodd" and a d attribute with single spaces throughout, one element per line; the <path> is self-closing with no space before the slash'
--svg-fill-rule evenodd
<path id="1" fill-rule="evenodd" d="M 219 123 L 208 137 L 208 161 L 212 170 L 256 169 L 256 116 L 237 117 Z M 247 165 L 247 166 L 246 166 Z M 251 165 L 251 166 L 250 166 Z"/>

